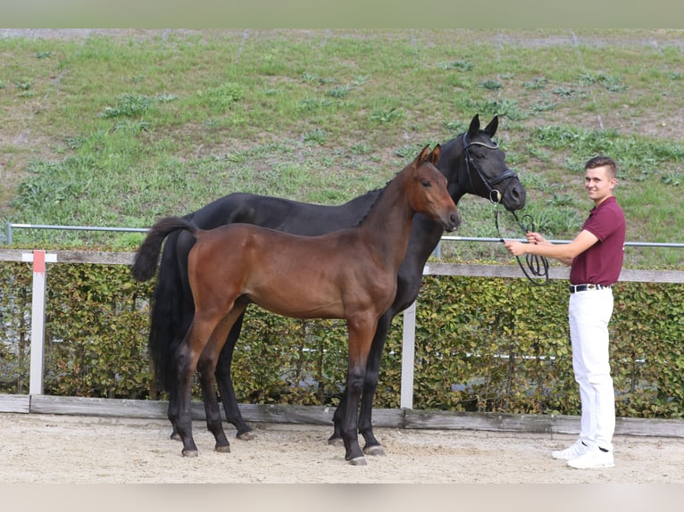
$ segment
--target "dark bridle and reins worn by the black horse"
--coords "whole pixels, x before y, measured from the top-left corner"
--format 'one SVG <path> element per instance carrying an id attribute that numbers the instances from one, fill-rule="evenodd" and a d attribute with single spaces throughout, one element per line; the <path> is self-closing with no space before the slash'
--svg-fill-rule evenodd
<path id="1" fill-rule="evenodd" d="M 485 144 L 483 142 L 468 142 L 467 139 L 468 134 L 464 133 L 463 134 L 463 153 L 465 155 L 465 167 L 468 172 L 468 177 L 471 180 L 471 190 L 475 190 L 473 184 L 472 184 L 472 173 L 471 173 L 471 167 L 472 169 L 475 169 L 475 171 L 478 173 L 478 178 L 480 178 L 480 181 L 484 184 L 484 186 L 487 187 L 488 193 L 489 193 L 489 201 L 494 204 L 494 223 L 496 225 L 496 233 L 499 235 L 499 240 L 501 241 L 502 244 L 505 243 L 504 237 L 501 235 L 501 231 L 499 229 L 499 211 L 498 211 L 498 205 L 501 204 L 501 200 L 503 198 L 503 194 L 496 190 L 494 188 L 495 185 L 501 183 L 507 178 L 517 178 L 518 175 L 515 174 L 515 171 L 513 169 L 506 169 L 503 173 L 501 173 L 499 176 L 493 179 L 488 179 L 484 172 L 482 171 L 482 168 L 480 167 L 480 164 L 475 161 L 472 158 L 471 152 L 469 151 L 470 147 L 473 145 L 480 145 L 482 147 L 486 147 L 488 149 L 498 149 L 499 145 L 493 142 L 492 145 Z M 508 186 L 511 186 L 509 183 Z M 508 186 L 506 186 L 504 193 L 506 190 L 508 190 Z M 522 231 L 524 233 L 528 233 L 529 231 L 534 231 L 535 226 L 534 226 L 534 219 L 529 214 L 525 214 L 522 216 L 522 220 L 524 220 L 527 224 L 523 224 L 521 222 L 521 219 L 518 219 L 518 214 L 515 213 L 515 211 L 511 211 L 513 213 L 513 218 L 515 221 L 518 223 L 518 226 L 521 227 Z M 538 256 L 536 254 L 525 254 L 525 262 L 527 263 L 527 268 L 530 270 L 530 273 L 528 273 L 528 270 L 526 270 L 521 263 L 520 257 L 516 256 L 516 260 L 518 260 L 518 265 L 520 265 L 520 268 L 522 270 L 522 273 L 527 277 L 530 282 L 534 285 L 538 286 L 543 286 L 548 284 L 548 260 L 544 256 Z M 533 278 L 530 276 L 534 277 L 543 277 L 543 281 L 538 281 L 537 279 Z"/>

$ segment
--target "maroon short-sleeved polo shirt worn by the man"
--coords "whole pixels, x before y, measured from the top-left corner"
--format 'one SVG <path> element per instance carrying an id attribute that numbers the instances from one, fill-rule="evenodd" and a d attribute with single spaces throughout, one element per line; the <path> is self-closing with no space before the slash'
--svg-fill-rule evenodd
<path id="1" fill-rule="evenodd" d="M 624 212 L 614 196 L 589 211 L 584 229 L 598 241 L 572 260 L 570 284 L 613 285 L 620 277 L 626 229 Z"/>

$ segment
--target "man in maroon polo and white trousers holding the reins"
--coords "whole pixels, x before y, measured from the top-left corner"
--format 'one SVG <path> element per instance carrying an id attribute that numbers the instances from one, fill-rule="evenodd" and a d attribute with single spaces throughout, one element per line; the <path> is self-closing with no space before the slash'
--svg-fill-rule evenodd
<path id="1" fill-rule="evenodd" d="M 613 290 L 622 268 L 625 217 L 613 196 L 615 162 L 605 156 L 585 165 L 584 186 L 594 208 L 570 244 L 551 244 L 527 233 L 528 244 L 509 241 L 514 256 L 537 254 L 555 258 L 570 270 L 568 319 L 572 369 L 580 384 L 580 438 L 570 448 L 552 452 L 569 467 L 613 467 L 615 396 L 608 356 L 608 322 L 613 315 Z"/>

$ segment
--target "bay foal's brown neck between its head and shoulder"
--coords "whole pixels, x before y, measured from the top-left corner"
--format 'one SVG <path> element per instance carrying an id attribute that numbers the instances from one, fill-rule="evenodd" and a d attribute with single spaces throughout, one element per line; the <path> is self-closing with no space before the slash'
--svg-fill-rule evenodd
<path id="1" fill-rule="evenodd" d="M 388 259 L 388 264 L 396 268 L 404 259 L 416 213 L 408 202 L 406 186 L 405 174 L 398 174 L 388 183 L 359 225 L 376 245 L 377 251 Z"/>

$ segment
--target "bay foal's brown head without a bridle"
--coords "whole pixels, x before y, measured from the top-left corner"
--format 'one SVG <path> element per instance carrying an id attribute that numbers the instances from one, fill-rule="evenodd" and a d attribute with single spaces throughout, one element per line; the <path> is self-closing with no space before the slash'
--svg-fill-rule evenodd
<path id="1" fill-rule="evenodd" d="M 426 145 L 411 163 L 409 202 L 414 211 L 428 215 L 446 231 L 454 231 L 461 225 L 461 216 L 446 188 L 445 176 L 436 167 L 440 154 L 439 145 L 432 151 Z"/>

